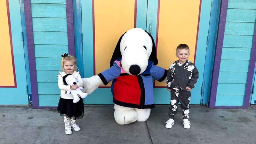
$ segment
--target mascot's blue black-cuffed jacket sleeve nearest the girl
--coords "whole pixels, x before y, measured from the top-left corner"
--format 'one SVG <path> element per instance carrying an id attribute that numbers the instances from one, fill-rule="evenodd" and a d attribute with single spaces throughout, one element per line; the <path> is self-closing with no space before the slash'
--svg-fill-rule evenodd
<path id="1" fill-rule="evenodd" d="M 116 79 L 121 73 L 121 68 L 118 67 L 116 62 L 114 62 L 113 66 L 106 69 L 105 71 L 98 74 L 100 76 L 101 81 L 103 84 L 107 85 L 113 79 Z"/>

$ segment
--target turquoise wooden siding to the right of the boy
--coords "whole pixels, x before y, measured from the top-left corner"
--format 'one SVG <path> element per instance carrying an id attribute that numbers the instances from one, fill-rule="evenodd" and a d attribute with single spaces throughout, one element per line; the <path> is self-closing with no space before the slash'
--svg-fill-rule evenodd
<path id="1" fill-rule="evenodd" d="M 216 106 L 243 106 L 255 17 L 255 0 L 228 1 Z"/>

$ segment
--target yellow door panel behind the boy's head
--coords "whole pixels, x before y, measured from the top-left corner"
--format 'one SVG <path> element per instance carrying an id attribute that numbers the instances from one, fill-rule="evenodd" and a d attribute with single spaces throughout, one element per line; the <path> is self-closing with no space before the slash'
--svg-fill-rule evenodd
<path id="1" fill-rule="evenodd" d="M 179 44 L 188 44 L 190 61 L 194 61 L 196 33 L 200 0 L 161 0 L 159 11 L 159 28 L 157 59 L 158 66 L 168 69 Z M 156 86 L 166 86 L 156 81 Z"/>

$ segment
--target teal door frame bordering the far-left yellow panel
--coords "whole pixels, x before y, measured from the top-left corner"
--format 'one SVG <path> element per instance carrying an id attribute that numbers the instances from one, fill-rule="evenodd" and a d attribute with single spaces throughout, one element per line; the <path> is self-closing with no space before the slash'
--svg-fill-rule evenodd
<path id="1" fill-rule="evenodd" d="M 16 86 L 0 87 L 0 105 L 27 105 L 27 79 L 24 58 L 24 48 L 22 42 L 22 27 L 20 16 L 20 1 L 9 0 L 12 49 L 13 49 L 13 63 L 15 68 L 14 80 Z M 7 9 L 8 10 L 8 9 Z"/>

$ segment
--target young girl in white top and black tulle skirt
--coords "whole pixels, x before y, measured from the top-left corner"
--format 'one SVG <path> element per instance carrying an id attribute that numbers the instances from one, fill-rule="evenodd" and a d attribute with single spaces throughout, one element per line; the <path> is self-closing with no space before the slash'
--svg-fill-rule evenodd
<path id="1" fill-rule="evenodd" d="M 76 58 L 72 55 L 61 55 L 61 71 L 58 75 L 58 86 L 60 88 L 60 100 L 57 111 L 60 116 L 64 116 L 65 133 L 71 134 L 72 130 L 80 131 L 80 127 L 76 125 L 76 119 L 84 116 L 84 102 L 81 97 L 77 103 L 73 103 L 73 96 L 67 93 L 68 90 L 76 90 L 83 85 L 79 72 L 76 71 Z M 77 83 L 73 86 L 64 85 L 63 76 L 71 74 L 77 79 Z"/>

